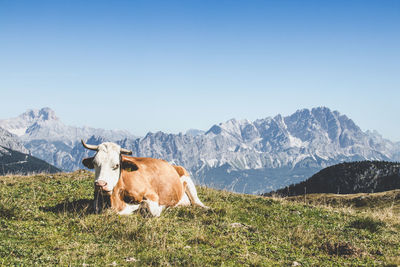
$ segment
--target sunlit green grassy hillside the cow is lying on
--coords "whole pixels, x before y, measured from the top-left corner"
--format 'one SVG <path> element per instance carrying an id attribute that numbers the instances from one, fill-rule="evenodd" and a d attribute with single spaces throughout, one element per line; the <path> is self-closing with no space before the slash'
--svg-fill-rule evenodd
<path id="1" fill-rule="evenodd" d="M 200 188 L 211 210 L 92 214 L 92 175 L 0 177 L 0 265 L 400 264 L 399 214 Z"/>

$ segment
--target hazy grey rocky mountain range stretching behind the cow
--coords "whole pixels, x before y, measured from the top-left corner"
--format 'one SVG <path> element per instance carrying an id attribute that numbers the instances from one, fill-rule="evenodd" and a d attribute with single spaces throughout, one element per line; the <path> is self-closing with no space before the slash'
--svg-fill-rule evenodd
<path id="1" fill-rule="evenodd" d="M 185 166 L 204 185 L 244 193 L 263 193 L 304 181 L 317 171 L 344 161 L 400 159 L 400 144 L 377 132 L 362 131 L 351 119 L 325 107 L 284 117 L 229 120 L 208 131 L 186 134 L 128 132 L 64 125 L 51 109 L 30 110 L 0 121 L 19 136 L 30 153 L 58 168 L 83 168 L 92 152 L 79 143 L 114 141 L 134 156 L 163 158 Z"/>

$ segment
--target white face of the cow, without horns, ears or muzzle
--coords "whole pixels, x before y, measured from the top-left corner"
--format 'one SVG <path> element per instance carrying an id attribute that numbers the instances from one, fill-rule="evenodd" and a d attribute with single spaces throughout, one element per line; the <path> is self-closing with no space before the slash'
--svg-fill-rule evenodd
<path id="1" fill-rule="evenodd" d="M 120 174 L 121 147 L 114 143 L 105 142 L 99 145 L 93 159 L 95 167 L 95 182 L 104 181 L 107 185 L 105 191 L 112 191 L 117 185 Z"/>

